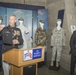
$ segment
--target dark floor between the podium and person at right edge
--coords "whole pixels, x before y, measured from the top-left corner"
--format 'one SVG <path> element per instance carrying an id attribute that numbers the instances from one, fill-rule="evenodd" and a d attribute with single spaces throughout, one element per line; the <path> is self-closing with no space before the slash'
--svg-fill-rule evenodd
<path id="1" fill-rule="evenodd" d="M 38 75 L 69 75 L 69 72 L 60 68 L 58 71 L 49 70 L 48 67 L 38 69 Z"/>

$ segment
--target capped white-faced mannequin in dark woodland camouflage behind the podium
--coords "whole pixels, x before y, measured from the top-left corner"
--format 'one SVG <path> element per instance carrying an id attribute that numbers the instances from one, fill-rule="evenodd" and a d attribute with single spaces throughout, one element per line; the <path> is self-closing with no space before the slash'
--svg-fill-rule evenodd
<path id="1" fill-rule="evenodd" d="M 43 27 L 44 22 L 43 20 L 40 20 L 39 22 L 40 28 L 37 28 L 35 33 L 35 43 L 36 46 L 45 46 L 46 45 L 46 29 Z M 44 61 L 46 62 L 45 58 Z M 38 65 L 43 66 L 44 62 L 40 62 Z"/>

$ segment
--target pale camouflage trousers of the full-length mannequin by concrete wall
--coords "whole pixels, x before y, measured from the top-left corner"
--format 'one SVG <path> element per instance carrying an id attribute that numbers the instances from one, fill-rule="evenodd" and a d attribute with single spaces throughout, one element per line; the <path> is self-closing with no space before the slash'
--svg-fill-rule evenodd
<path id="1" fill-rule="evenodd" d="M 62 51 L 61 46 L 54 46 L 52 48 L 52 59 L 51 60 L 55 61 L 55 57 L 56 57 L 56 61 L 60 61 L 61 51 Z"/>

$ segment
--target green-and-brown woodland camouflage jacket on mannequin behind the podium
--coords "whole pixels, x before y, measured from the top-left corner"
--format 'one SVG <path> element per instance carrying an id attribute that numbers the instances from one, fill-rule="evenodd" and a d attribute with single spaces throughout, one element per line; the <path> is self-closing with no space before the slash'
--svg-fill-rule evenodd
<path id="1" fill-rule="evenodd" d="M 37 28 L 35 33 L 35 43 L 37 46 L 46 45 L 46 29 Z"/>

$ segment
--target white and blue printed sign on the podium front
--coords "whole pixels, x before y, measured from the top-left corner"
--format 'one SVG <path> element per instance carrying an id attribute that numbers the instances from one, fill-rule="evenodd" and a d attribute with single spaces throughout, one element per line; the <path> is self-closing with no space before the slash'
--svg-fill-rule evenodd
<path id="1" fill-rule="evenodd" d="M 23 53 L 23 61 L 34 60 L 42 57 L 42 49 L 25 50 Z"/>

